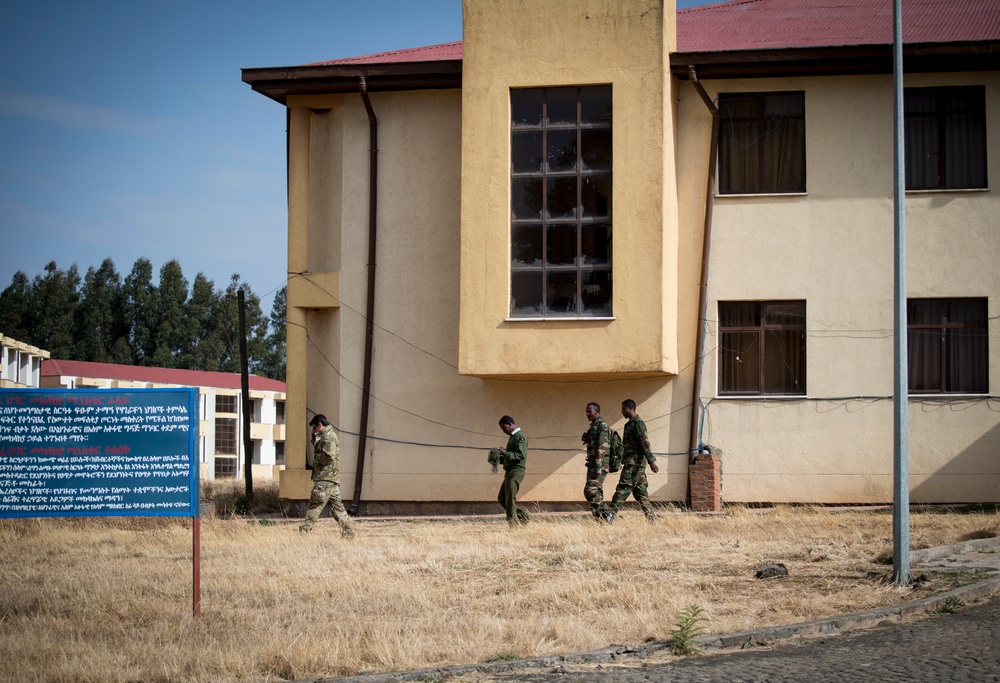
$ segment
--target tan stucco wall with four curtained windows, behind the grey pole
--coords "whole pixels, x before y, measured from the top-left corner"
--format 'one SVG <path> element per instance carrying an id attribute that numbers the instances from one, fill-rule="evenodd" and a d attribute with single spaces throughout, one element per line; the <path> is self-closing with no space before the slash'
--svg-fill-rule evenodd
<path id="1" fill-rule="evenodd" d="M 1000 178 L 1000 79 L 921 74 L 907 86 L 985 84 L 989 177 Z M 803 90 L 807 196 L 719 197 L 708 317 L 720 300 L 805 299 L 808 400 L 719 399 L 716 354 L 702 396 L 705 441 L 722 449 L 723 497 L 735 501 L 888 502 L 892 498 L 893 124 L 889 76 L 704 82 L 719 92 Z M 680 91 L 684 157 L 705 148 L 704 105 Z M 706 124 L 707 125 L 707 124 Z M 685 195 L 681 190 L 682 197 Z M 1000 386 L 1000 245 L 995 192 L 910 193 L 910 297 L 989 297 L 990 387 Z M 682 210 L 682 215 L 684 211 Z M 707 348 L 718 344 L 712 322 Z M 714 399 L 714 400 L 713 400 Z M 829 400 L 838 399 L 838 400 Z M 996 401 L 911 399 L 911 501 L 993 501 L 1000 491 Z"/>

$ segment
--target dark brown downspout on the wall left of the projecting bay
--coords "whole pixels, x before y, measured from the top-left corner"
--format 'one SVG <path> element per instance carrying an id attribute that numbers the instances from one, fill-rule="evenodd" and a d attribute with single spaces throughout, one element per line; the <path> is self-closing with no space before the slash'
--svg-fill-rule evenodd
<path id="1" fill-rule="evenodd" d="M 361 99 L 368 112 L 369 170 L 368 170 L 368 308 L 365 313 L 365 374 L 361 389 L 361 427 L 358 429 L 358 464 L 354 474 L 354 498 L 348 510 L 358 514 L 361 504 L 361 485 L 365 473 L 365 449 L 368 445 L 368 404 L 371 402 L 372 388 L 372 340 L 375 334 L 375 236 L 376 210 L 378 208 L 378 120 L 368 98 L 365 77 L 358 78 Z"/>

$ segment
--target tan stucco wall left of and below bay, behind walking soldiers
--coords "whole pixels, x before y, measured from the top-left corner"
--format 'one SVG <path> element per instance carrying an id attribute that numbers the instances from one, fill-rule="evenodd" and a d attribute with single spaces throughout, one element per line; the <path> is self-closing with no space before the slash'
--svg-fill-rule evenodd
<path id="1" fill-rule="evenodd" d="M 378 263 L 362 499 L 495 500 L 501 479 L 490 474 L 486 455 L 490 447 L 506 443 L 497 421 L 511 414 L 530 442 L 521 499 L 529 504 L 582 502 L 585 404 L 602 403 L 609 422 L 620 429 L 624 420 L 619 407 L 628 397 L 639 402 L 640 414 L 649 421 L 654 450 L 680 454 L 661 456 L 661 472 L 650 480 L 651 494 L 656 500 L 683 499 L 687 434 L 685 428 L 670 427 L 671 420 L 686 415 L 689 382 L 516 381 L 459 373 L 461 93 L 372 93 L 371 101 L 379 134 Z M 324 103 L 331 105 L 329 98 Z M 299 268 L 338 270 L 340 298 L 337 308 L 300 310 L 305 329 L 298 347 L 289 326 L 288 467 L 280 476 L 281 495 L 294 499 L 309 494 L 309 473 L 301 467 L 305 424 L 314 412 L 329 417 L 340 433 L 345 500 L 353 497 L 357 472 L 368 264 L 368 118 L 360 96 L 343 96 L 337 104 L 306 117 L 309 203 L 308 211 L 298 213 L 308 214 L 308 235 L 295 239 L 309 248 Z M 687 278 L 694 279 L 690 273 Z M 289 292 L 290 306 L 297 306 Z M 685 334 L 693 342 L 690 330 Z M 293 374 L 298 372 L 293 370 L 295 355 L 307 359 L 301 374 Z M 300 385 L 305 414 L 295 420 L 288 406 Z M 293 435 L 299 445 L 292 445 Z M 609 496 L 613 480 L 609 478 Z"/>

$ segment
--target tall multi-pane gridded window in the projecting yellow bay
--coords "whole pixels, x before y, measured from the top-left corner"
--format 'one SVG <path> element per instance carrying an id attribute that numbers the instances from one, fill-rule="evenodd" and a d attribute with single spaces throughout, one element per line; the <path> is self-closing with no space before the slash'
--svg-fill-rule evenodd
<path id="1" fill-rule="evenodd" d="M 510 92 L 510 316 L 611 316 L 611 86 Z"/>

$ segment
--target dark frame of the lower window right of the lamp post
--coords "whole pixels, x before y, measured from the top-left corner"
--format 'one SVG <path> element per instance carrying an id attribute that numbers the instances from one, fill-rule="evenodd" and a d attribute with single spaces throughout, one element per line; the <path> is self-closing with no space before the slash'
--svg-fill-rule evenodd
<path id="1" fill-rule="evenodd" d="M 925 315 L 932 313 L 930 307 L 935 303 L 940 303 L 940 308 L 937 311 L 937 320 L 930 322 L 913 322 L 914 308 L 917 304 L 923 303 L 928 307 L 928 312 Z M 955 304 L 981 304 L 982 315 L 981 318 L 974 321 L 955 321 L 949 320 L 950 306 Z M 955 335 L 961 330 L 981 330 L 980 333 L 975 333 L 973 336 L 975 339 L 982 339 L 981 348 L 962 348 L 956 344 Z M 933 337 L 937 335 L 940 337 L 940 345 L 937 346 L 936 355 L 938 356 L 937 363 L 928 363 L 925 360 L 925 354 L 929 351 L 924 349 L 924 345 L 916 343 L 919 338 L 918 335 L 921 331 L 927 331 L 930 334 L 928 336 Z M 986 297 L 913 297 L 906 300 L 906 344 L 907 344 L 907 386 L 908 393 L 914 395 L 949 395 L 949 394 L 975 394 L 975 395 L 989 395 L 989 378 L 990 378 L 990 339 L 989 339 L 989 300 Z M 981 368 L 973 365 L 971 369 L 967 370 L 965 373 L 962 372 L 961 367 L 956 367 L 957 364 L 961 363 L 964 355 L 958 356 L 958 354 L 967 354 L 971 351 L 972 354 L 978 354 L 982 357 L 983 366 Z M 933 361 L 933 358 L 929 360 Z M 975 358 L 968 361 L 969 363 L 975 363 Z M 935 367 L 936 366 L 936 367 Z M 938 379 L 934 384 L 935 387 L 928 387 L 927 385 L 931 382 L 930 378 L 927 377 L 927 373 L 936 372 Z M 920 379 L 916 379 L 917 373 L 923 373 Z M 955 376 L 959 375 L 958 380 L 954 380 Z M 969 383 L 961 383 L 964 376 L 971 378 Z M 982 380 L 981 385 L 976 385 L 974 382 L 977 379 Z M 955 387 L 952 382 L 960 382 L 960 386 Z"/>

